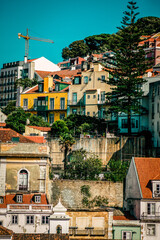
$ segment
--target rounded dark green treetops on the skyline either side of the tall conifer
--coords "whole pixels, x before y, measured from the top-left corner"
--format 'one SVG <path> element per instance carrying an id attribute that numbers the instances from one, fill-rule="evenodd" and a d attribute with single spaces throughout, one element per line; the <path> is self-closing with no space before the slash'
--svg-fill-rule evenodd
<path id="1" fill-rule="evenodd" d="M 160 18 L 158 17 L 143 17 L 134 22 L 140 35 L 150 35 L 160 32 Z M 84 40 L 74 41 L 69 47 L 65 47 L 62 50 L 62 58 L 69 59 L 72 57 L 84 57 L 88 53 L 100 53 L 107 50 L 114 51 L 116 46 L 117 33 L 108 34 L 102 33 L 98 35 L 92 35 L 84 38 Z M 78 47 L 78 49 L 77 49 Z"/>

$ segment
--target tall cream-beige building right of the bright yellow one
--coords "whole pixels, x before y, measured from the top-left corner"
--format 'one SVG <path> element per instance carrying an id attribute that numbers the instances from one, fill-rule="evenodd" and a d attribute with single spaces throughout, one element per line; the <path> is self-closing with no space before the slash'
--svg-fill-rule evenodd
<path id="1" fill-rule="evenodd" d="M 75 76 L 69 87 L 69 112 L 91 117 L 106 118 L 105 94 L 110 92 L 106 83 L 109 72 L 100 63 L 90 63 L 89 70 Z"/>

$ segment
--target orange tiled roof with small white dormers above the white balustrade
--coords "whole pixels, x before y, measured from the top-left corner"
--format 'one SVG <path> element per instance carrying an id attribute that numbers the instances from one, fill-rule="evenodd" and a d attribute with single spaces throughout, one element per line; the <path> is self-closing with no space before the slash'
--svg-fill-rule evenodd
<path id="1" fill-rule="evenodd" d="M 41 202 L 39 204 L 48 204 L 46 194 L 41 195 Z M 6 208 L 7 204 L 38 204 L 34 202 L 34 196 L 37 194 L 23 194 L 22 203 L 16 202 L 16 194 L 9 194 L 3 197 L 3 203 L 0 203 L 0 208 Z"/>

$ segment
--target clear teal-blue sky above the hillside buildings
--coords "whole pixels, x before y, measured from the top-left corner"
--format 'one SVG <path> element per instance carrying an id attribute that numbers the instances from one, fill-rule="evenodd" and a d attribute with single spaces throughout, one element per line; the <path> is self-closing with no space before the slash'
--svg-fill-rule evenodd
<path id="1" fill-rule="evenodd" d="M 128 0 L 0 0 L 0 68 L 22 61 L 25 40 L 18 33 L 51 39 L 53 44 L 29 40 L 30 59 L 61 62 L 62 49 L 76 40 L 116 33 Z M 138 18 L 160 17 L 160 0 L 137 0 Z"/>

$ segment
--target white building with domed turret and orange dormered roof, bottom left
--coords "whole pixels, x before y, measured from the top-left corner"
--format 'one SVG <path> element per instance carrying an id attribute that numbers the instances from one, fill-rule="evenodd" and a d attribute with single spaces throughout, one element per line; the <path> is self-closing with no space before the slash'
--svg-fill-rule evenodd
<path id="1" fill-rule="evenodd" d="M 0 225 L 15 233 L 69 233 L 67 209 L 53 208 L 45 194 L 10 194 L 0 197 Z"/>

